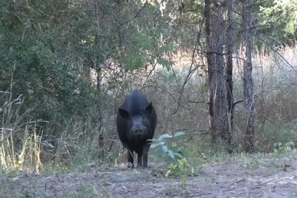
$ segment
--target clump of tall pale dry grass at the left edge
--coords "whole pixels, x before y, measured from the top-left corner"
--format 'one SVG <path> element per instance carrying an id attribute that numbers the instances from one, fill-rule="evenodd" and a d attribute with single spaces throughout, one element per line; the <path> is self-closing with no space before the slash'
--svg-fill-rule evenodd
<path id="1" fill-rule="evenodd" d="M 42 131 L 41 120 L 30 119 L 30 111 L 19 114 L 22 96 L 13 99 L 11 92 L 0 92 L 0 169 L 39 173 Z"/>

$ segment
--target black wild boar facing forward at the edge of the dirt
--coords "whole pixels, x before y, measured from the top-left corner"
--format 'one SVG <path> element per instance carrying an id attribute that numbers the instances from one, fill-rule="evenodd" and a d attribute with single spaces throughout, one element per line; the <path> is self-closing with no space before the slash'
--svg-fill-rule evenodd
<path id="1" fill-rule="evenodd" d="M 128 167 L 134 167 L 134 151 L 138 153 L 137 166 L 148 167 L 148 140 L 153 138 L 156 124 L 157 114 L 147 96 L 140 90 L 130 92 L 116 117 L 120 141 L 128 152 Z"/>

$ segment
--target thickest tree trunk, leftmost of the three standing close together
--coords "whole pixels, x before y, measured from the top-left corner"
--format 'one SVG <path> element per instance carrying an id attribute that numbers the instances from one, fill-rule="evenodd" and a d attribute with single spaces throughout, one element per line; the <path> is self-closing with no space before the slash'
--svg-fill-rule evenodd
<path id="1" fill-rule="evenodd" d="M 214 145 L 219 135 L 224 139 L 229 133 L 226 79 L 222 54 L 222 2 L 205 0 L 204 16 L 209 87 L 209 126 L 211 143 Z"/>

